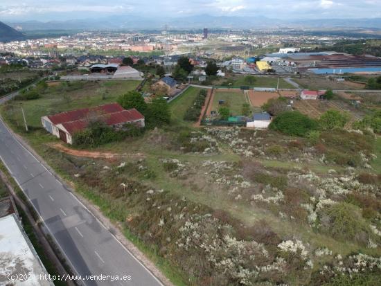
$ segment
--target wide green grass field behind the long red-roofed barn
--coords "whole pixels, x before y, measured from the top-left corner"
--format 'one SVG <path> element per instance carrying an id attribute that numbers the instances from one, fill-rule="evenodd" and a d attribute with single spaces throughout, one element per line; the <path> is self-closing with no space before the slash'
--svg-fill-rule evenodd
<path id="1" fill-rule="evenodd" d="M 61 83 L 48 87 L 41 98 L 25 101 L 13 100 L 8 103 L 7 108 L 10 109 L 9 115 L 21 124 L 21 107 L 23 107 L 28 125 L 40 127 L 42 116 L 116 102 L 118 96 L 133 90 L 138 84 L 139 81 L 135 80 L 72 82 L 69 86 Z M 101 89 L 107 90 L 105 99 L 102 99 L 100 95 Z"/>

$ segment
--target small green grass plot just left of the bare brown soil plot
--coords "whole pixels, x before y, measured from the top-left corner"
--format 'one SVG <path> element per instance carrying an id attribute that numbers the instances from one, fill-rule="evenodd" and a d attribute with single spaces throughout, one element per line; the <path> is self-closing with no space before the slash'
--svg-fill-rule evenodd
<path id="1" fill-rule="evenodd" d="M 244 103 L 248 103 L 245 94 L 243 91 L 215 91 L 215 96 L 213 98 L 212 109 L 214 111 L 218 111 L 220 108 L 220 105 L 218 104 L 218 100 L 224 100 L 224 105 L 229 107 L 231 114 L 233 116 L 241 115 L 242 114 L 242 105 Z"/>

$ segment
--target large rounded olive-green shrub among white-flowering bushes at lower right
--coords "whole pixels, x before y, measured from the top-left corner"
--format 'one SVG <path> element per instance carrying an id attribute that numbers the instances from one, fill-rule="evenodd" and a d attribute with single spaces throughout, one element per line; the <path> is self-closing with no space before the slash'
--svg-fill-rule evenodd
<path id="1" fill-rule="evenodd" d="M 370 229 L 359 209 L 352 204 L 338 203 L 321 211 L 320 229 L 337 240 L 354 240 L 366 244 Z"/>

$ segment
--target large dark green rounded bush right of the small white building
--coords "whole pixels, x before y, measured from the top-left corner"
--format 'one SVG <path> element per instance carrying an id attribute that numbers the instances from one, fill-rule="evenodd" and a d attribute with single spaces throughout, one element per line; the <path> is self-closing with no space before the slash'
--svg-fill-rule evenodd
<path id="1" fill-rule="evenodd" d="M 317 129 L 317 122 L 299 111 L 285 111 L 272 120 L 269 128 L 288 135 L 306 136 Z"/>

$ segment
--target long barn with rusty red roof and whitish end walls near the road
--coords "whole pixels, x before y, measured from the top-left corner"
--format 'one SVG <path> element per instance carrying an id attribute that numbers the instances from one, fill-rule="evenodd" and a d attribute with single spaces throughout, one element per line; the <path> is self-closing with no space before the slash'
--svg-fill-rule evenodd
<path id="1" fill-rule="evenodd" d="M 109 103 L 98 107 L 64 111 L 59 114 L 42 116 L 41 123 L 47 132 L 57 136 L 65 143 L 73 143 L 73 134 L 89 125 L 89 122 L 101 120 L 114 128 L 123 128 L 126 124 L 144 127 L 144 116 L 136 109 L 124 109 L 118 103 Z"/>

